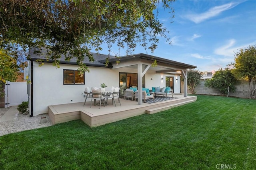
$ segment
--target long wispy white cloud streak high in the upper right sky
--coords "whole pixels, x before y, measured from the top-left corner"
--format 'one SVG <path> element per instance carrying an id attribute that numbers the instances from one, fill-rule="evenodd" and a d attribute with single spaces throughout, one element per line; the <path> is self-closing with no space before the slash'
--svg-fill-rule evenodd
<path id="1" fill-rule="evenodd" d="M 231 8 L 234 8 L 241 2 L 230 2 L 228 4 L 224 4 L 221 6 L 214 6 L 210 8 L 208 11 L 201 13 L 201 14 L 188 14 L 185 17 L 189 20 L 193 21 L 194 23 L 200 23 L 202 21 L 208 20 L 209 18 L 212 18 L 214 16 L 218 16 L 220 13 L 229 10 Z"/>

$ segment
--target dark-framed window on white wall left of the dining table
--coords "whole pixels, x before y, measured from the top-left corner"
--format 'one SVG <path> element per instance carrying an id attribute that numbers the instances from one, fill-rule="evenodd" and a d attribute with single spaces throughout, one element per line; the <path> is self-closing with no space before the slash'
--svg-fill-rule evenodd
<path id="1" fill-rule="evenodd" d="M 84 84 L 84 75 L 81 77 L 78 70 L 63 69 L 63 84 Z"/>

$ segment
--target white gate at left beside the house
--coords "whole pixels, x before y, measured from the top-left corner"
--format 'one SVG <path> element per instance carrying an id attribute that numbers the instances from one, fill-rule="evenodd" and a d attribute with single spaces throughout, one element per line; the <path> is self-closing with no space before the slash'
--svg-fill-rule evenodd
<path id="1" fill-rule="evenodd" d="M 9 82 L 5 84 L 5 107 L 17 106 L 28 102 L 27 82 Z"/>

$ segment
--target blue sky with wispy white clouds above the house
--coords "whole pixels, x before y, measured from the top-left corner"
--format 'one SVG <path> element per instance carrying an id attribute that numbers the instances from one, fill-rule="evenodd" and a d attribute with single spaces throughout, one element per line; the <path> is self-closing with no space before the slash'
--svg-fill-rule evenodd
<path id="1" fill-rule="evenodd" d="M 256 1 L 177 0 L 173 2 L 175 18 L 170 23 L 168 11 L 159 10 L 159 20 L 170 33 L 159 37 L 154 56 L 197 66 L 214 72 L 234 62 L 238 49 L 256 44 Z M 100 53 L 108 54 L 108 49 Z M 115 51 L 114 53 L 119 53 Z M 146 53 L 137 47 L 134 54 Z M 148 54 L 151 54 L 148 51 Z M 125 49 L 120 52 L 125 55 Z"/>

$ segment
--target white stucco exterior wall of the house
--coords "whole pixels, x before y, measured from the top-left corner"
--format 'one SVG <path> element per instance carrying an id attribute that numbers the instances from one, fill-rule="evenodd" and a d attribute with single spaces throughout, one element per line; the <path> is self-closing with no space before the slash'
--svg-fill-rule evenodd
<path id="1" fill-rule="evenodd" d="M 76 65 L 68 64 L 60 64 L 60 68 L 56 68 L 52 63 L 44 63 L 40 67 L 37 62 L 33 62 L 33 115 L 47 113 L 50 105 L 84 102 L 86 86 L 100 87 L 100 84 L 105 83 L 108 86 L 106 89 L 109 90 L 112 86 L 118 87 L 119 72 L 137 73 L 136 69 L 131 68 L 89 67 L 90 72 L 85 73 L 85 84 L 63 85 L 63 69 L 77 70 L 77 68 Z M 174 76 L 174 93 L 180 93 L 179 75 L 156 74 L 150 70 L 146 72 L 146 88 L 164 87 L 165 76 Z"/>

